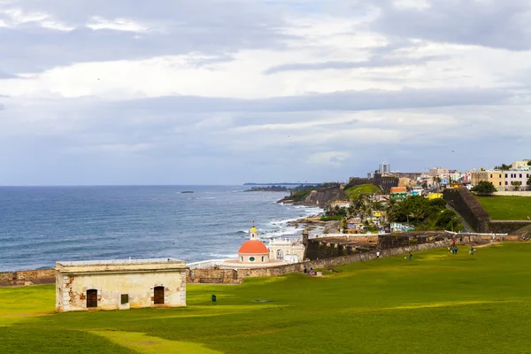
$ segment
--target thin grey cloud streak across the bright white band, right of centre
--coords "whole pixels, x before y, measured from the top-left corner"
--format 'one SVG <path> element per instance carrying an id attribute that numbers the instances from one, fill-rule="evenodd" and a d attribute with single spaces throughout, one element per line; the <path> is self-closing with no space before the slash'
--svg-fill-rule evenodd
<path id="1" fill-rule="evenodd" d="M 325 69 L 361 69 L 405 65 L 423 65 L 429 61 L 444 60 L 449 57 L 430 56 L 425 58 L 371 58 L 366 61 L 327 61 L 311 64 L 284 64 L 273 66 L 265 73 L 281 73 L 302 70 L 325 70 Z"/>

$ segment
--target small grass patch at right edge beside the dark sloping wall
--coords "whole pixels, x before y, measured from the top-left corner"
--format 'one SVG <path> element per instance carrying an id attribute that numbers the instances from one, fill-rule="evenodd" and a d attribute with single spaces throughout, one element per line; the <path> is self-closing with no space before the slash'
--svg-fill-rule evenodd
<path id="1" fill-rule="evenodd" d="M 527 220 L 531 196 L 476 196 L 493 220 Z"/>

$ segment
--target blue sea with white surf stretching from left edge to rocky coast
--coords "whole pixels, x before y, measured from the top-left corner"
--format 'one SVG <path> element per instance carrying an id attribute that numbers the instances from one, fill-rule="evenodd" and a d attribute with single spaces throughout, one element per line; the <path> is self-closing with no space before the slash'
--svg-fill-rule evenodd
<path id="1" fill-rule="evenodd" d="M 235 257 L 256 222 L 261 237 L 316 209 L 244 186 L 2 187 L 0 271 L 58 260 Z M 195 193 L 181 193 L 193 190 Z"/>

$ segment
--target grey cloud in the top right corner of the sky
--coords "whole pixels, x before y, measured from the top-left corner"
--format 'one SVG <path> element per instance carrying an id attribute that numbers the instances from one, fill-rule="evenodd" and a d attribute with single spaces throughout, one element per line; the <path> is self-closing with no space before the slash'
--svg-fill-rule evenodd
<path id="1" fill-rule="evenodd" d="M 528 0 L 427 3 L 429 7 L 425 9 L 414 9 L 381 0 L 381 14 L 371 27 L 396 37 L 507 50 L 531 49 L 531 2 Z"/>

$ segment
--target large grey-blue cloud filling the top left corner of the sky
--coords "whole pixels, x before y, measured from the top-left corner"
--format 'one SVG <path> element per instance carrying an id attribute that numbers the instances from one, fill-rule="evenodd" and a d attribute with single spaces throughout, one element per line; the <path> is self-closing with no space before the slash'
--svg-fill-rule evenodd
<path id="1" fill-rule="evenodd" d="M 50 14 L 72 31 L 28 22 L 0 27 L 0 65 L 12 72 L 38 72 L 79 62 L 153 58 L 198 52 L 229 60 L 242 49 L 281 48 L 284 23 L 261 5 L 241 1 L 14 1 L 13 8 Z M 5 6 L 5 5 L 4 5 Z M 94 17 L 133 20 L 147 31 L 92 30 Z M 216 58 L 212 59 L 216 60 Z M 208 63 L 206 63 L 208 64 Z"/>

